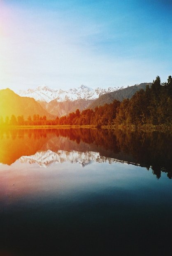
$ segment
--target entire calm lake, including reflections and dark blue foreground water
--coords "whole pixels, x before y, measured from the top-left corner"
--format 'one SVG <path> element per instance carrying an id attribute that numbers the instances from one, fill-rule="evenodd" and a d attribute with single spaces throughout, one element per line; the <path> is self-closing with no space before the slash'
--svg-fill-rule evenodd
<path id="1" fill-rule="evenodd" d="M 0 131 L 0 255 L 172 255 L 172 136 Z"/>

